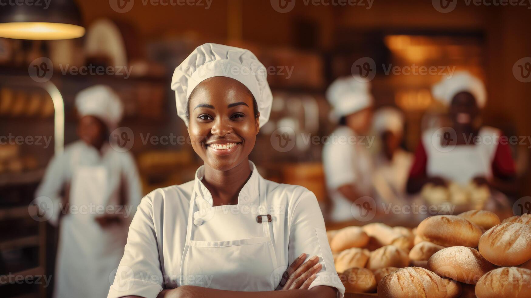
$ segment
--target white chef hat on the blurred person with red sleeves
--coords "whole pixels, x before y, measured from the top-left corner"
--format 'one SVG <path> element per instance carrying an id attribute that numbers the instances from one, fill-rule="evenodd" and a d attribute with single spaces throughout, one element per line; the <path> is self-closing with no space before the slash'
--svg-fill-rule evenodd
<path id="1" fill-rule="evenodd" d="M 460 92 L 469 92 L 476 98 L 477 106 L 485 106 L 487 92 L 483 81 L 467 71 L 456 72 L 452 77 L 444 78 L 432 87 L 433 97 L 444 105 L 450 105 L 453 97 Z"/>

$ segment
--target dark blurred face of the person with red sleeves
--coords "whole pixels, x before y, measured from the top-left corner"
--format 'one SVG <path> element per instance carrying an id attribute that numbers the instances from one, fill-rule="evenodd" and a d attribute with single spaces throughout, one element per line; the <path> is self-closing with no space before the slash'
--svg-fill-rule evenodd
<path id="1" fill-rule="evenodd" d="M 472 126 L 479 115 L 476 98 L 468 92 L 461 92 L 453 97 L 450 105 L 450 119 L 455 126 Z"/>

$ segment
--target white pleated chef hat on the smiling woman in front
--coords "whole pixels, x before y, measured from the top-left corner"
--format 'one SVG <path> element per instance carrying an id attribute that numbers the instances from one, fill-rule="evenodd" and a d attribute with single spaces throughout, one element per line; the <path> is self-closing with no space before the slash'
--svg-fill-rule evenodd
<path id="1" fill-rule="evenodd" d="M 233 78 L 245 85 L 258 104 L 260 127 L 269 120 L 273 95 L 264 65 L 248 49 L 208 43 L 195 48 L 173 73 L 177 115 L 186 126 L 190 94 L 200 82 L 212 77 Z"/>

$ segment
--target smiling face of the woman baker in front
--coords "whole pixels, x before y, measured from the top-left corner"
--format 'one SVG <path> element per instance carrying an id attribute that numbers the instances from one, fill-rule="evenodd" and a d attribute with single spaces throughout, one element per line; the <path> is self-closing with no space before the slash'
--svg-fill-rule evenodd
<path id="1" fill-rule="evenodd" d="M 189 109 L 192 147 L 206 165 L 228 171 L 247 160 L 260 129 L 247 87 L 227 77 L 204 80 L 193 90 Z"/>

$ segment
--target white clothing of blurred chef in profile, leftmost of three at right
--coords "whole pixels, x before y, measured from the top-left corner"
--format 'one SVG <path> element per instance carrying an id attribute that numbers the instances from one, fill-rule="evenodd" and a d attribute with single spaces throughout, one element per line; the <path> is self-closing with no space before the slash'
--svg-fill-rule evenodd
<path id="1" fill-rule="evenodd" d="M 323 146 L 323 169 L 332 201 L 333 221 L 353 220 L 352 201 L 337 191 L 343 185 L 354 185 L 362 194 L 372 192 L 372 158 L 369 140 L 358 138 L 354 130 L 341 125 Z"/>

